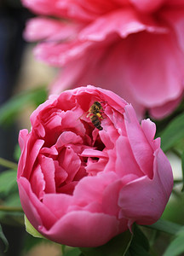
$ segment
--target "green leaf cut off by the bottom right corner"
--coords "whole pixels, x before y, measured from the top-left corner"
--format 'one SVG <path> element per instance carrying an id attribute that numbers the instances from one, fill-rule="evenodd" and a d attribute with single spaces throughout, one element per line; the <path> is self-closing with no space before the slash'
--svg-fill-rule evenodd
<path id="1" fill-rule="evenodd" d="M 178 232 L 177 236 L 173 241 L 171 241 L 170 246 L 167 247 L 163 256 L 177 256 L 184 253 L 184 228 Z"/>

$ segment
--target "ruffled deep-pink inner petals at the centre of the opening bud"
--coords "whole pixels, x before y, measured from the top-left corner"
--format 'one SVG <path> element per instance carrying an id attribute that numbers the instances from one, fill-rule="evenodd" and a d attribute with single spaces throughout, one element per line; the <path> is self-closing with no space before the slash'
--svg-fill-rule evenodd
<path id="1" fill-rule="evenodd" d="M 43 127 L 46 139 L 31 178 L 39 200 L 49 193 L 72 195 L 79 180 L 104 170 L 108 161 L 106 146 L 86 114 L 80 118 L 73 109 L 53 108 L 52 113 L 49 110 L 45 113 Z"/>

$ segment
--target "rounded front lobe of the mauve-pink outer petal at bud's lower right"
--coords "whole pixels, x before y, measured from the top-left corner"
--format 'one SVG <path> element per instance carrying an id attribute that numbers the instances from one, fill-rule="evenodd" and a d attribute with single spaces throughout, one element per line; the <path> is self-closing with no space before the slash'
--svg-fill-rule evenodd
<path id="1" fill-rule="evenodd" d="M 167 201 L 158 177 L 154 180 L 141 177 L 120 190 L 119 218 L 129 218 L 137 224 L 153 224 L 161 217 Z"/>

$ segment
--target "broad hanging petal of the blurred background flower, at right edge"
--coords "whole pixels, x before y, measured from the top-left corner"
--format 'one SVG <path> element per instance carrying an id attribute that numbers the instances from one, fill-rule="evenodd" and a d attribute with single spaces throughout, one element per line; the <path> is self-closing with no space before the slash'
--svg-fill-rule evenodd
<path id="1" fill-rule="evenodd" d="M 134 48 L 135 40 L 136 50 L 129 52 L 129 59 L 125 58 L 127 79 L 136 101 L 152 108 L 177 99 L 183 90 L 184 56 L 175 47 L 175 36 L 171 32 L 137 33 L 128 38 L 127 50 Z"/>

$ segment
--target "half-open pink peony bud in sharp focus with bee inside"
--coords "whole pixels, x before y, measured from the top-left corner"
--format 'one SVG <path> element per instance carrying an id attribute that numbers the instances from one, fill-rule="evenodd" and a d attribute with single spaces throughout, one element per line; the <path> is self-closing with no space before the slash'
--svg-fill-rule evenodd
<path id="1" fill-rule="evenodd" d="M 94 102 L 98 124 L 89 114 Z M 160 218 L 173 186 L 170 163 L 154 123 L 140 125 L 122 98 L 90 85 L 66 90 L 31 122 L 32 131 L 20 131 L 17 181 L 26 217 L 43 236 L 97 247 L 134 222 Z"/>

